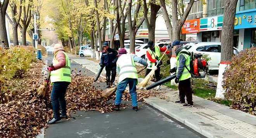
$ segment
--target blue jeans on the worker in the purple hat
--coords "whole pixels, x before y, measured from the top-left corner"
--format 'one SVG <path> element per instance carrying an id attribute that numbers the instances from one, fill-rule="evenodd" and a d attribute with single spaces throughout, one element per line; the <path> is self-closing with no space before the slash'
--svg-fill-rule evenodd
<path id="1" fill-rule="evenodd" d="M 116 89 L 115 105 L 121 104 L 123 92 L 125 91 L 125 88 L 128 84 L 129 84 L 132 106 L 133 107 L 138 106 L 137 92 L 136 92 L 137 79 L 135 78 L 126 78 L 125 80 L 118 83 L 118 87 Z"/>

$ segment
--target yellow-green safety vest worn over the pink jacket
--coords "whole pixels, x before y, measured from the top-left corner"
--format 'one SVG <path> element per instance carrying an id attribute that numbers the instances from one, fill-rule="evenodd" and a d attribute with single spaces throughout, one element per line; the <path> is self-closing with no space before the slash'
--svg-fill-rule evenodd
<path id="1" fill-rule="evenodd" d="M 70 61 L 67 54 L 64 51 L 59 51 L 64 53 L 66 59 L 66 66 L 59 68 L 58 70 L 54 70 L 51 72 L 50 80 L 51 82 L 71 82 L 71 69 L 70 69 Z M 57 52 L 58 53 L 58 52 Z M 52 63 L 56 65 L 59 61 L 55 58 L 57 53 L 54 55 L 54 59 Z"/>

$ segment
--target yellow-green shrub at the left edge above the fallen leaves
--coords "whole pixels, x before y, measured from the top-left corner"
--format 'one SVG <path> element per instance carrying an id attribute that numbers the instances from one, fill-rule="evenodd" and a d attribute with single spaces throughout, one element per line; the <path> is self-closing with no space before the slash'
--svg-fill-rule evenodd
<path id="1" fill-rule="evenodd" d="M 8 87 L 8 80 L 21 77 L 33 61 L 36 61 L 34 48 L 19 46 L 0 49 L 0 103 Z"/>

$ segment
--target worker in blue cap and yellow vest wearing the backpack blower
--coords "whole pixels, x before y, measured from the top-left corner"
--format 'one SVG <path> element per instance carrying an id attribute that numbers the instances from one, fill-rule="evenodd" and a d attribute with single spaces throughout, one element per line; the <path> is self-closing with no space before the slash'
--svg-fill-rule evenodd
<path id="1" fill-rule="evenodd" d="M 183 107 L 192 107 L 192 89 L 190 83 L 190 53 L 182 48 L 180 41 L 174 41 L 172 44 L 173 50 L 175 51 L 176 57 L 176 68 L 170 70 L 171 73 L 176 72 L 175 82 L 179 83 L 178 89 L 180 94 L 180 100 L 176 103 L 185 103 L 185 96 L 187 97 L 187 104 Z"/>

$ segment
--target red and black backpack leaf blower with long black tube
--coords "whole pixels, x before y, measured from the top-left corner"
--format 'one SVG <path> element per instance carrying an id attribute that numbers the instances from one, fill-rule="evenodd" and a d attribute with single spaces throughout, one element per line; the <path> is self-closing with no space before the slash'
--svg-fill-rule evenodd
<path id="1" fill-rule="evenodd" d="M 191 76 L 193 78 L 204 78 L 206 75 L 206 71 L 208 70 L 208 63 L 206 60 L 201 59 L 202 54 L 194 54 L 193 52 L 192 53 L 184 53 L 184 54 L 190 55 L 190 70 L 187 66 L 185 66 L 185 68 L 187 68 L 187 70 L 189 70 Z M 150 89 L 152 89 L 158 85 L 161 85 L 165 82 L 168 82 L 174 78 L 176 78 L 176 73 L 147 86 L 146 89 L 150 90 Z"/>

